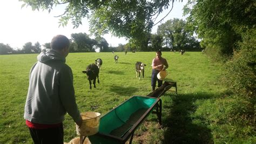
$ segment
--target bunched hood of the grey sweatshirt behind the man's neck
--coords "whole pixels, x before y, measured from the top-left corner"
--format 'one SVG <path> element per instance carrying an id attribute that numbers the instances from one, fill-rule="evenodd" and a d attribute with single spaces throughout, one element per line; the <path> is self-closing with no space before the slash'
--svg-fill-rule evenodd
<path id="1" fill-rule="evenodd" d="M 37 60 L 40 61 L 41 63 L 46 63 L 48 61 L 52 61 L 52 60 L 60 60 L 63 61 L 63 63 L 66 62 L 66 58 L 64 56 L 62 56 L 61 54 L 59 54 L 58 51 L 50 49 L 46 52 L 41 52 L 38 56 L 37 56 Z"/>

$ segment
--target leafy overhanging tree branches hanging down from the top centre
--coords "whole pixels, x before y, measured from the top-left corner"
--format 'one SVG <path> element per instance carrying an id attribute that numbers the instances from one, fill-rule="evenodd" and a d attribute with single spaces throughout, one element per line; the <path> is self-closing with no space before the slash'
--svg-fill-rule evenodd
<path id="1" fill-rule="evenodd" d="M 65 4 L 66 9 L 60 15 L 60 25 L 65 26 L 71 19 L 74 28 L 82 24 L 82 18 L 89 18 L 90 31 L 95 36 L 111 32 L 117 37 L 134 39 L 133 41 L 147 42 L 146 37 L 151 32 L 154 20 L 168 9 L 169 0 L 159 1 L 49 1 L 23 0 L 25 6 L 32 10 L 46 9 L 49 12 L 53 6 Z M 182 2 L 182 1 L 181 1 Z M 147 45 L 147 44 L 146 44 Z"/>

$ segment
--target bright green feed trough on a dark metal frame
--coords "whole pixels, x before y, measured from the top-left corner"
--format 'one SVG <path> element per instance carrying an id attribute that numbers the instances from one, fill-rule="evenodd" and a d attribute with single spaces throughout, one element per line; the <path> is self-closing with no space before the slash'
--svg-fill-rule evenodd
<path id="1" fill-rule="evenodd" d="M 153 110 L 156 111 L 153 111 Z M 161 99 L 133 96 L 100 118 L 99 132 L 88 136 L 91 143 L 130 143 L 134 131 L 150 114 L 156 113 L 161 123 Z"/>

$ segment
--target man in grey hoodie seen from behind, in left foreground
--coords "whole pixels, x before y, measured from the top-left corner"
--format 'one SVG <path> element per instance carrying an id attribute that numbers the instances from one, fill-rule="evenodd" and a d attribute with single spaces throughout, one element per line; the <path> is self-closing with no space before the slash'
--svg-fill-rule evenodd
<path id="1" fill-rule="evenodd" d="M 70 41 L 57 35 L 50 45 L 51 49 L 41 52 L 30 70 L 24 119 L 35 143 L 63 144 L 64 115 L 68 112 L 78 126 L 82 125 L 82 117 L 76 104 L 72 70 L 65 64 Z"/>

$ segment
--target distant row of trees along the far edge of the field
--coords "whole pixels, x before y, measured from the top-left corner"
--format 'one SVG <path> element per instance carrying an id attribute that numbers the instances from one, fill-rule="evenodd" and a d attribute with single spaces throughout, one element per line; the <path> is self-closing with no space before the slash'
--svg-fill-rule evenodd
<path id="1" fill-rule="evenodd" d="M 8 44 L 0 43 L 0 54 L 39 53 L 50 49 L 50 43 L 41 45 L 39 42 L 25 43 L 22 49 L 13 49 Z M 170 19 L 158 26 L 157 33 L 149 33 L 145 40 L 138 42 L 130 39 L 127 44 L 110 46 L 103 37 L 90 38 L 86 33 L 72 33 L 70 39 L 70 52 L 121 52 L 121 51 L 162 51 L 186 50 L 200 51 L 200 45 L 192 32 L 186 29 L 186 21 Z"/>

